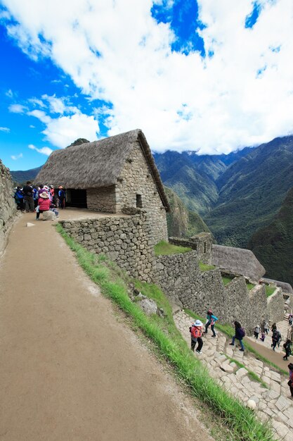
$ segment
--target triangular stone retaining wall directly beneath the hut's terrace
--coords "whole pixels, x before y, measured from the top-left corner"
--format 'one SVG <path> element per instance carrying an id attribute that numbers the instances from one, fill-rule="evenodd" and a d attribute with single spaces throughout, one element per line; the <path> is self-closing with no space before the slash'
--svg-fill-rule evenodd
<path id="1" fill-rule="evenodd" d="M 154 243 L 145 211 L 134 216 L 86 218 L 60 224 L 82 247 L 105 254 L 131 277 L 152 282 Z"/>

